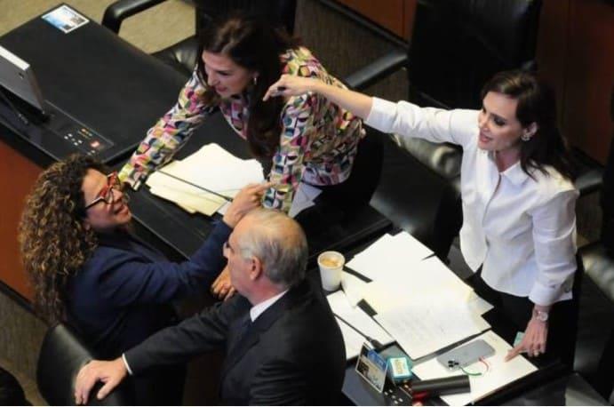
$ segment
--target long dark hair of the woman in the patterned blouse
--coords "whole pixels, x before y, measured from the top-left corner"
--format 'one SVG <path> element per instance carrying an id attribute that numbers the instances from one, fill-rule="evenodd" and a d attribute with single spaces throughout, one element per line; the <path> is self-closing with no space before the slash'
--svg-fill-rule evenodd
<path id="1" fill-rule="evenodd" d="M 207 82 L 203 51 L 227 55 L 235 64 L 258 72 L 256 83 L 247 89 L 250 109 L 247 141 L 251 153 L 259 158 L 272 157 L 279 146 L 284 104 L 282 98 L 266 102 L 262 98 L 282 75 L 281 55 L 296 46 L 298 41 L 286 35 L 282 28 L 273 28 L 260 17 L 243 12 L 212 20 L 200 36 L 197 69 L 203 84 Z M 219 101 L 213 89 L 205 92 L 203 98 L 209 104 Z"/>

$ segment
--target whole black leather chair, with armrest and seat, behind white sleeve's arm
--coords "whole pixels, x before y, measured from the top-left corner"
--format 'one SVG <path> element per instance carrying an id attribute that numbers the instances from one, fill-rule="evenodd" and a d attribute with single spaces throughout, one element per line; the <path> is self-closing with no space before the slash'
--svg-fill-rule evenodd
<path id="1" fill-rule="evenodd" d="M 362 89 L 397 67 L 421 106 L 479 108 L 482 84 L 494 73 L 530 67 L 540 0 L 419 0 L 411 44 L 349 76 Z M 371 205 L 445 259 L 462 225 L 460 161 L 450 144 L 393 137 Z"/>

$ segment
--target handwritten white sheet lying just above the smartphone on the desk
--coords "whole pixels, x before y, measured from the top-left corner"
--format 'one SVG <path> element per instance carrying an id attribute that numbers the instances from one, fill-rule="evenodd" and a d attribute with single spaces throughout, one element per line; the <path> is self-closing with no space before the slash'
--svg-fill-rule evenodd
<path id="1" fill-rule="evenodd" d="M 490 328 L 466 304 L 444 296 L 429 302 L 390 307 L 374 318 L 414 360 Z"/>

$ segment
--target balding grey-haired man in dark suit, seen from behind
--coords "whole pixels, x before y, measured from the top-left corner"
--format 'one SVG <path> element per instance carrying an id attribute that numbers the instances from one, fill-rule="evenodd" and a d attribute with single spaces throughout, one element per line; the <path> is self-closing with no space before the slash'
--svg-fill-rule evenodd
<path id="1" fill-rule="evenodd" d="M 225 403 L 336 404 L 346 355 L 339 326 L 319 288 L 305 279 L 307 240 L 279 211 L 251 211 L 224 245 L 232 299 L 156 333 L 114 361 L 92 361 L 76 379 L 76 403 L 100 380 L 101 399 L 126 375 L 187 362 L 225 348 Z"/>

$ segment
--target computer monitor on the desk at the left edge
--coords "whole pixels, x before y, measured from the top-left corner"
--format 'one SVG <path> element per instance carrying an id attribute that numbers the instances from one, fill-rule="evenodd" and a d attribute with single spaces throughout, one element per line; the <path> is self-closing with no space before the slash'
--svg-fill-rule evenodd
<path id="1" fill-rule="evenodd" d="M 27 101 L 40 113 L 46 113 L 43 95 L 32 67 L 3 46 L 0 46 L 0 85 Z"/>

